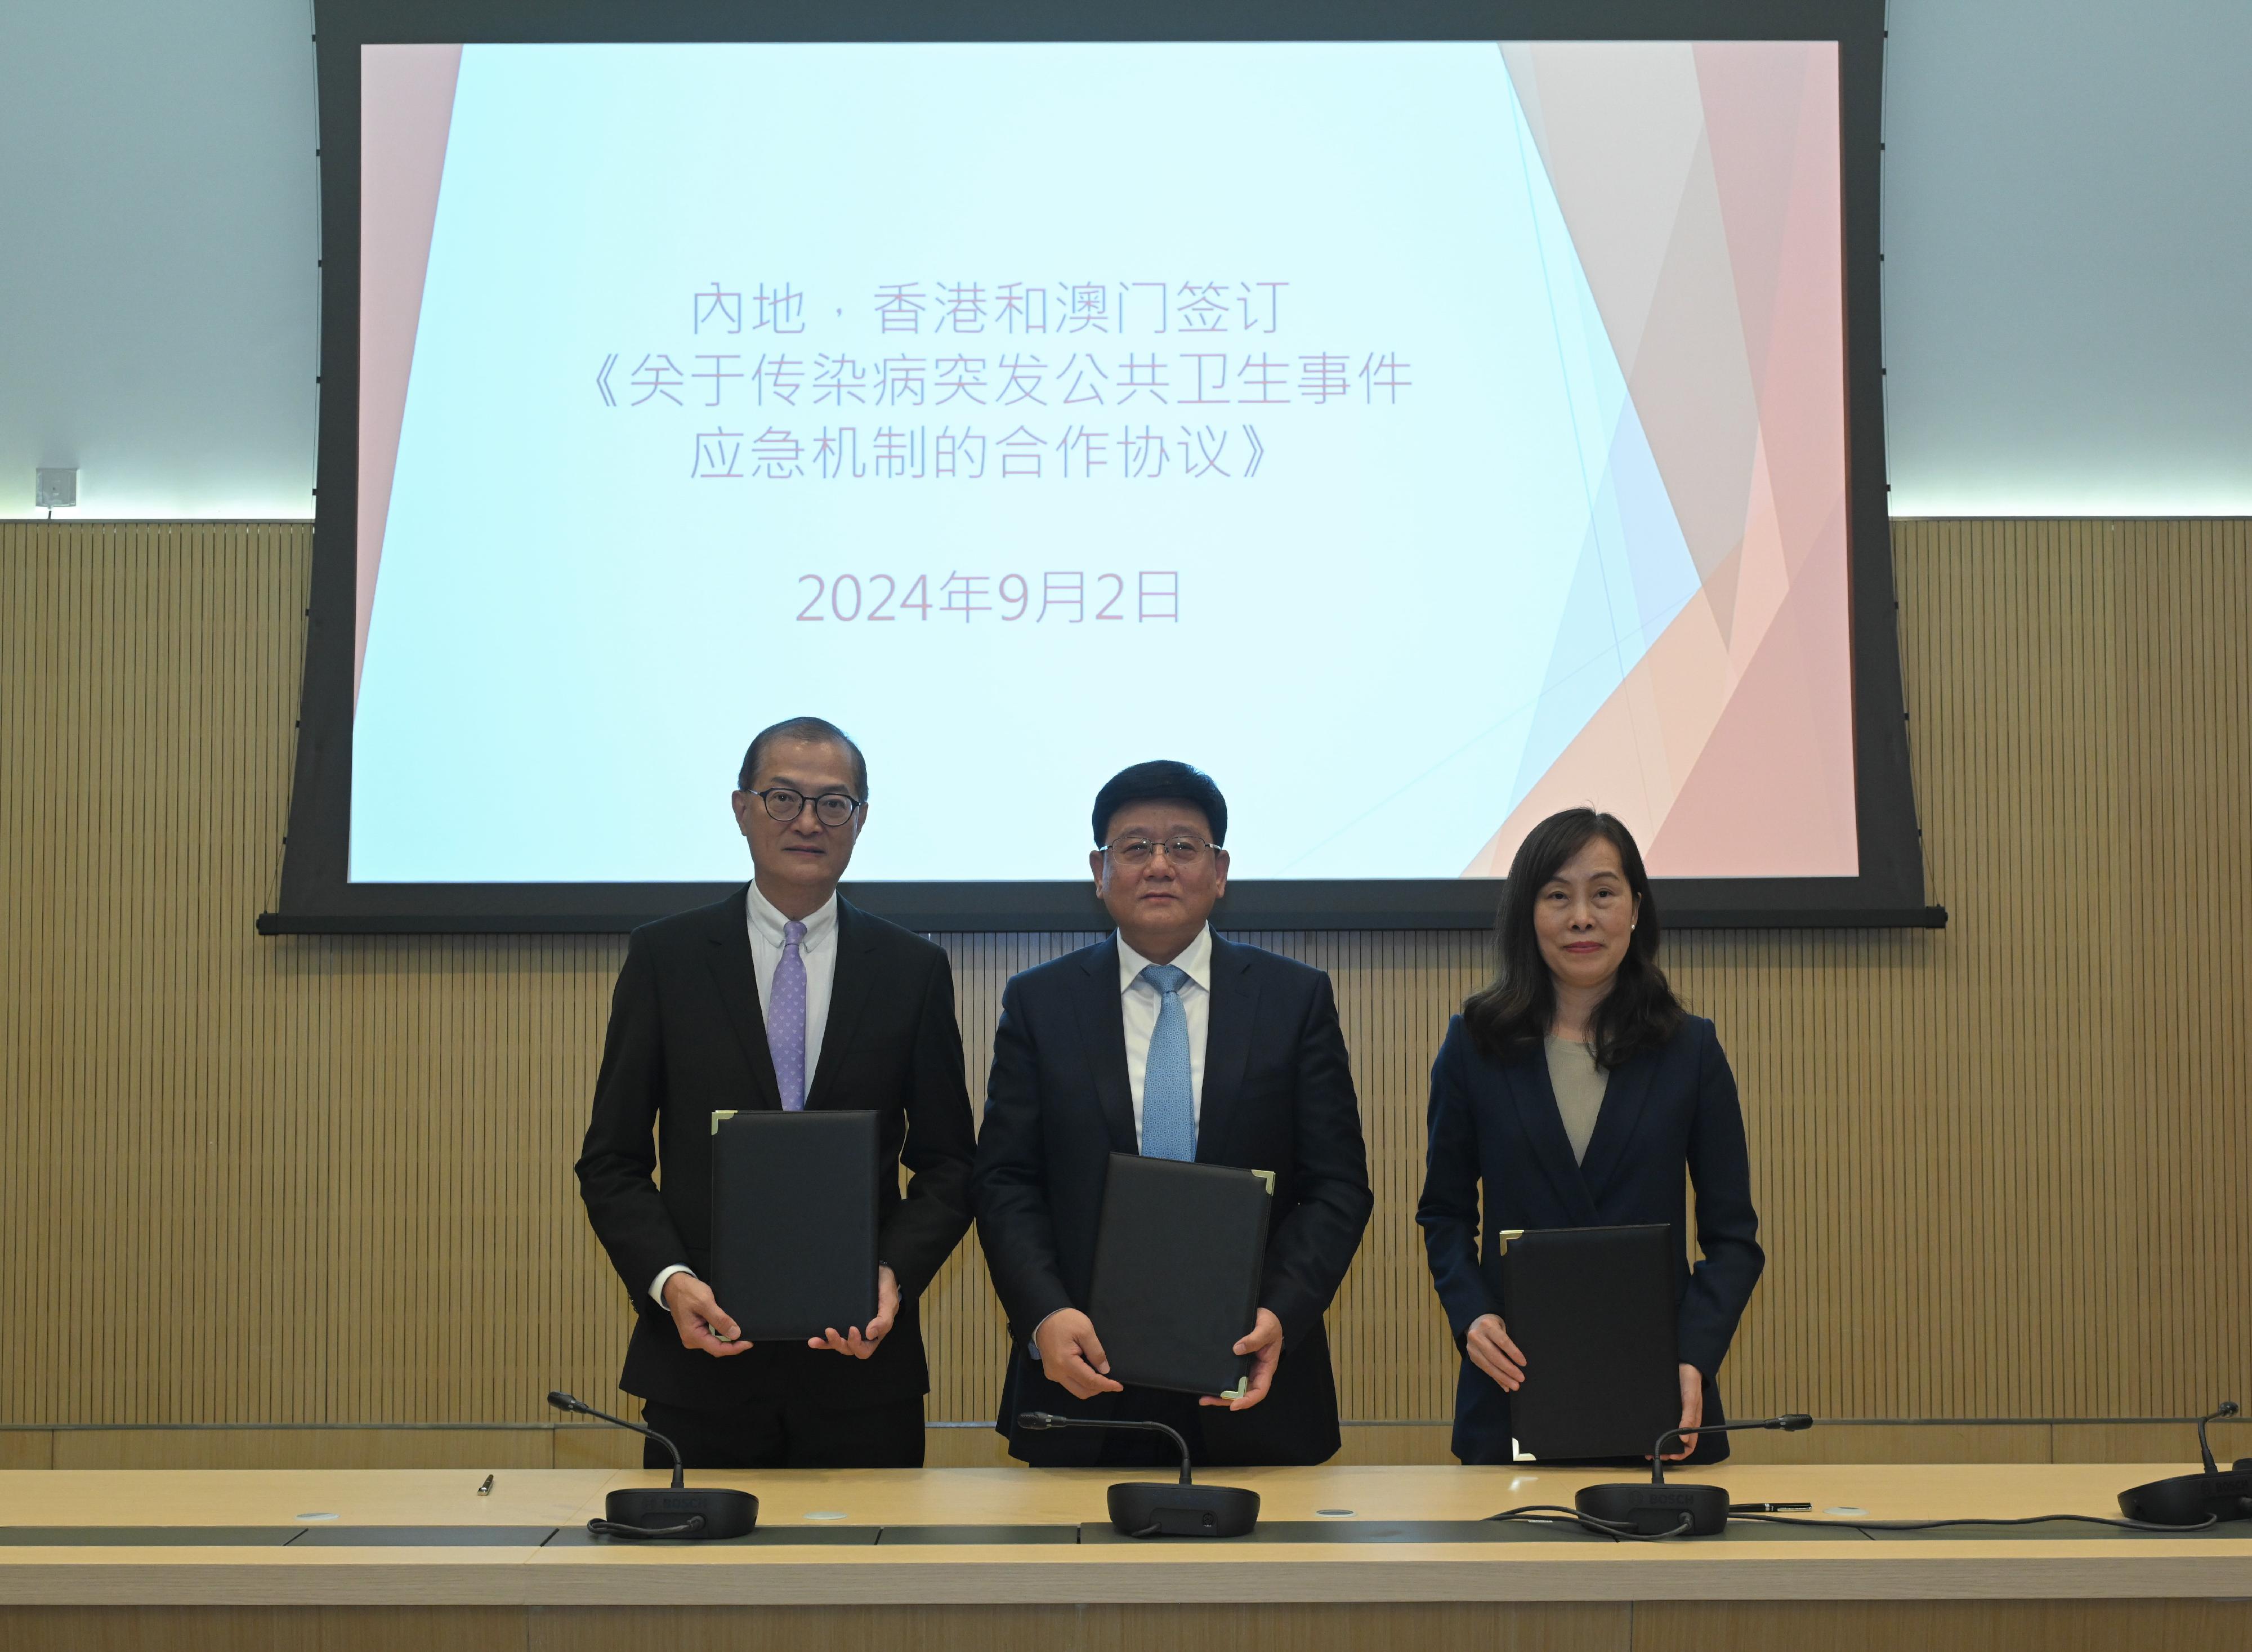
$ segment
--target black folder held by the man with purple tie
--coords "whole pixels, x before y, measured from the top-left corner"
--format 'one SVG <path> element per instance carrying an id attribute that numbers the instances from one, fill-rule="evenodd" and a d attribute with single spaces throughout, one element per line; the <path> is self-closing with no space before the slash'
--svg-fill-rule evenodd
<path id="1" fill-rule="evenodd" d="M 876 1317 L 874 1112 L 712 1114 L 712 1294 L 748 1341 Z"/>

